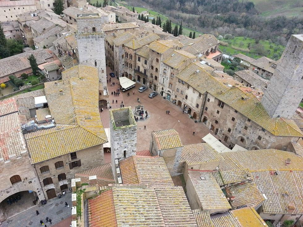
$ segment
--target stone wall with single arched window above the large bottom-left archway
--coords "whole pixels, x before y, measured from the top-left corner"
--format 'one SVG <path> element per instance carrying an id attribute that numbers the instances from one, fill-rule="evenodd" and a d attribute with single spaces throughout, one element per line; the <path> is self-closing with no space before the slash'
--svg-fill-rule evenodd
<path id="1" fill-rule="evenodd" d="M 35 169 L 30 163 L 28 153 L 20 157 L 10 157 L 9 161 L 0 161 L 0 202 L 20 191 L 35 191 L 39 200 L 44 200 L 44 194 Z M 12 185 L 10 178 L 19 175 L 22 182 Z"/>

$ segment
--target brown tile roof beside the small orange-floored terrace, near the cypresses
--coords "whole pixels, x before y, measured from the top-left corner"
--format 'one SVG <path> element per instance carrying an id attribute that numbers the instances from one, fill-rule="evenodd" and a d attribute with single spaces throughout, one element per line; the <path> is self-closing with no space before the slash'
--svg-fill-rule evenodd
<path id="1" fill-rule="evenodd" d="M 218 43 L 219 41 L 216 39 L 215 36 L 204 34 L 203 36 L 199 36 L 193 41 L 190 41 L 190 43 L 186 45 L 184 50 L 191 54 L 197 55 L 198 53 L 207 51 L 207 49 L 209 49 L 211 46 L 214 46 Z"/>

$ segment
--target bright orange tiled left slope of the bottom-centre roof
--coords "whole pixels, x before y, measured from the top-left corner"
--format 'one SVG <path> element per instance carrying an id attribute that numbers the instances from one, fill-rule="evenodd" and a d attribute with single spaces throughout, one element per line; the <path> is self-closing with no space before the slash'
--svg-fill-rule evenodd
<path id="1" fill-rule="evenodd" d="M 88 200 L 88 220 L 90 227 L 118 227 L 112 190 Z"/>

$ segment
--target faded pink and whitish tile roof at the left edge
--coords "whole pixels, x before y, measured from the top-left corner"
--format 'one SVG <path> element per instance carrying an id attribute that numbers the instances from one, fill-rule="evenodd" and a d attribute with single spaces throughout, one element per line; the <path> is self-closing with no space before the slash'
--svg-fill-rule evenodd
<path id="1" fill-rule="evenodd" d="M 21 122 L 15 98 L 0 101 L 0 160 L 10 160 L 26 153 Z"/>

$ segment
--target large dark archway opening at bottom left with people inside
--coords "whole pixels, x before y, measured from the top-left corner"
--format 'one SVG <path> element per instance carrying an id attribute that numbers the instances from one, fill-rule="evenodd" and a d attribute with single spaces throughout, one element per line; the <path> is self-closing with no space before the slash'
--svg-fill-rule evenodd
<path id="1" fill-rule="evenodd" d="M 33 201 L 35 200 L 36 202 L 36 197 L 37 193 L 35 191 L 17 192 L 8 196 L 0 203 L 0 210 L 2 210 L 4 218 L 10 218 L 34 206 Z M 39 203 L 39 201 L 37 201 L 37 203 Z"/>

